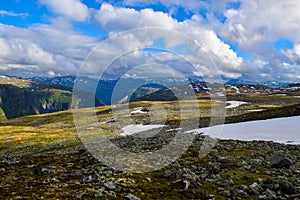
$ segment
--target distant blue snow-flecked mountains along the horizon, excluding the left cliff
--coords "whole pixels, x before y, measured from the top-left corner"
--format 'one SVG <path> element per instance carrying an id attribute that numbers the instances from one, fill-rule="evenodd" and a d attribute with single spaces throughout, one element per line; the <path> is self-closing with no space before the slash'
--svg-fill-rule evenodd
<path id="1" fill-rule="evenodd" d="M 183 94 L 187 90 L 186 85 L 190 84 L 196 95 L 208 94 L 211 88 L 219 90 L 215 92 L 225 93 L 248 93 L 261 92 L 272 93 L 273 91 L 282 91 L 286 89 L 297 89 L 299 83 L 288 83 L 279 81 L 254 81 L 246 79 L 229 79 L 224 85 L 214 84 L 203 81 L 201 77 L 190 77 L 189 79 L 116 79 L 116 80 L 96 80 L 89 77 L 60 76 L 60 77 L 34 77 L 33 80 L 58 84 L 66 87 L 77 85 L 83 90 L 94 93 L 104 104 L 124 103 L 128 101 L 171 101 L 176 100 L 177 95 Z M 135 86 L 137 86 L 135 88 Z M 222 91 L 222 88 L 225 90 Z M 131 94 L 131 96 L 129 96 Z M 114 96 L 115 95 L 115 96 Z M 113 100 L 112 100 L 113 99 Z"/>

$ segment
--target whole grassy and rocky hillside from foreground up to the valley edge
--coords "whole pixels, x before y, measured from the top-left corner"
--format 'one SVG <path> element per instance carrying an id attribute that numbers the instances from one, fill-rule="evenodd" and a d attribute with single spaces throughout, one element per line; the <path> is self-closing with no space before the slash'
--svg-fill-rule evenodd
<path id="1" fill-rule="evenodd" d="M 227 109 L 226 122 L 300 114 L 296 98 L 292 104 L 291 98 L 272 98 L 260 96 L 252 98 L 251 104 Z M 278 105 L 284 101 L 287 106 Z M 75 113 L 91 141 L 109 137 L 128 152 L 155 152 L 174 139 L 181 120 L 193 123 L 183 127 L 187 130 L 198 119 L 199 126 L 208 125 L 210 100 L 196 102 L 200 116 L 193 111 L 195 101 L 182 102 L 181 113 L 178 103 L 133 102 L 75 110 Z M 141 107 L 147 109 L 133 112 Z M 247 112 L 257 108 L 264 111 Z M 91 118 L 93 112 L 96 119 Z M 172 164 L 147 173 L 123 172 L 106 166 L 87 151 L 73 117 L 73 112 L 66 110 L 0 122 L 1 199 L 256 199 L 258 196 L 293 199 L 299 196 L 299 145 L 222 140 L 210 149 L 216 141 L 197 135 Z M 145 131 L 143 134 L 152 135 L 147 138 L 120 136 L 122 126 L 134 122 L 149 124 L 149 120 L 166 126 L 155 135 L 151 130 Z M 207 146 L 203 146 L 204 139 Z M 201 157 L 203 148 L 210 149 L 205 157 Z M 278 152 L 284 155 L 284 165 L 274 164 Z M 114 153 L 110 151 L 109 155 Z M 134 167 L 137 163 L 126 160 L 123 164 Z"/>

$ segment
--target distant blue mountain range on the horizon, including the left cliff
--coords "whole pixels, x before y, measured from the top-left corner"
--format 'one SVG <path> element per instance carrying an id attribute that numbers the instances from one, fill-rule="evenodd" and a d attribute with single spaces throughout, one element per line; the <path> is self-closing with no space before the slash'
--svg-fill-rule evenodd
<path id="1" fill-rule="evenodd" d="M 0 120 L 26 115 L 43 114 L 72 108 L 74 85 L 80 89 L 79 107 L 95 98 L 95 106 L 111 105 L 128 101 L 171 101 L 183 95 L 188 85 L 196 95 L 207 95 L 211 88 L 225 88 L 218 92 L 247 93 L 298 90 L 300 83 L 266 81 L 255 83 L 239 79 L 228 80 L 223 85 L 211 85 L 199 78 L 180 79 L 116 79 L 97 80 L 89 77 L 59 76 L 22 79 L 0 76 Z M 221 87 L 222 86 L 222 87 Z M 77 88 L 77 89 L 78 89 Z M 175 93 L 177 94 L 175 94 Z"/>

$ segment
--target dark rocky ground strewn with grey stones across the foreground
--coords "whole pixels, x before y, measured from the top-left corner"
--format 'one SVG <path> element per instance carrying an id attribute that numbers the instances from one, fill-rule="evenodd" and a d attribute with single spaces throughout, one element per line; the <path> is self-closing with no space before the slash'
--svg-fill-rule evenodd
<path id="1" fill-rule="evenodd" d="M 151 148 L 171 136 L 153 137 Z M 203 138 L 198 135 L 171 165 L 148 173 L 116 171 L 83 146 L 1 155 L 0 198 L 300 199 L 299 145 L 222 140 L 201 158 Z M 130 141 L 131 137 L 124 137 L 114 142 L 127 150 L 142 151 Z"/>

